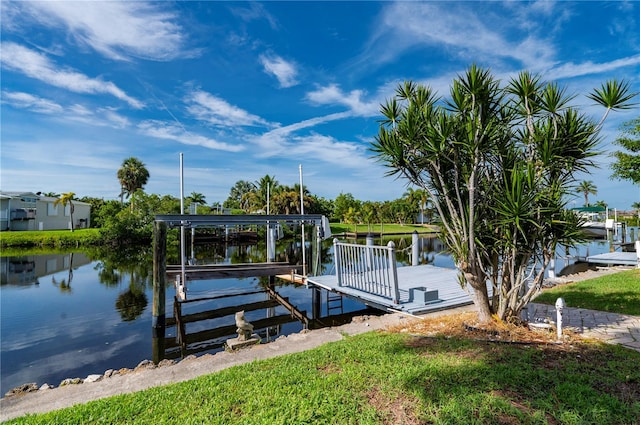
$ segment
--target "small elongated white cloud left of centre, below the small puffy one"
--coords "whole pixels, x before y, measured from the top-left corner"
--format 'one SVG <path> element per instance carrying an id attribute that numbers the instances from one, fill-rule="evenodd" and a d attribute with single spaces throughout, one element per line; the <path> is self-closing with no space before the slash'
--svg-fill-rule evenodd
<path id="1" fill-rule="evenodd" d="M 223 127 L 270 126 L 259 116 L 250 114 L 244 109 L 202 90 L 190 93 L 185 102 L 190 104 L 187 107 L 189 113 L 212 125 Z"/>

